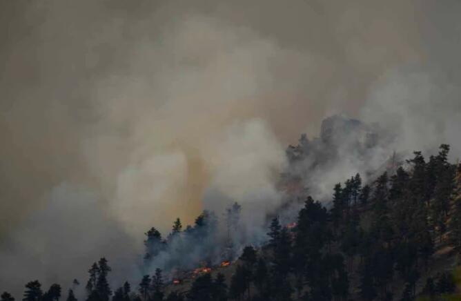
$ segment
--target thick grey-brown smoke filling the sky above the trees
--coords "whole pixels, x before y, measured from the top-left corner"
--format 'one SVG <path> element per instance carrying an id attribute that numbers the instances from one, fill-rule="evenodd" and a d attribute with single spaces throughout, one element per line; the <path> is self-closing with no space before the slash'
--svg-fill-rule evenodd
<path id="1" fill-rule="evenodd" d="M 0 290 L 69 284 L 101 255 L 131 273 L 144 231 L 204 206 L 238 201 L 258 224 L 281 200 L 286 145 L 326 115 L 394 133 L 376 158 L 440 142 L 460 156 L 460 13 L 457 0 L 1 1 Z M 324 183 L 361 170 L 347 157 Z"/>

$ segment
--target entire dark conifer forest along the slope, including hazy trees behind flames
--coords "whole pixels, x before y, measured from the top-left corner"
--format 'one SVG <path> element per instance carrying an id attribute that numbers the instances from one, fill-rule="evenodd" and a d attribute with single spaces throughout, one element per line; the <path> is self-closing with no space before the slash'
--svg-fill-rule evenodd
<path id="1" fill-rule="evenodd" d="M 328 208 L 306 197 L 290 224 L 268 217 L 267 240 L 258 245 L 235 248 L 244 241 L 230 235 L 244 210 L 237 203 L 224 214 L 224 238 L 213 235 L 218 217 L 208 211 L 186 229 L 175 220 L 166 238 L 152 228 L 144 265 L 153 275 L 111 288 L 101 258 L 88 270 L 84 300 L 460 300 L 461 164 L 448 155 L 442 144 L 437 155 L 415 152 L 371 182 L 353 175 L 334 186 Z M 188 272 L 197 264 L 202 269 Z M 72 289 L 43 290 L 34 280 L 23 301 L 77 301 Z M 14 298 L 4 292 L 1 301 Z"/>

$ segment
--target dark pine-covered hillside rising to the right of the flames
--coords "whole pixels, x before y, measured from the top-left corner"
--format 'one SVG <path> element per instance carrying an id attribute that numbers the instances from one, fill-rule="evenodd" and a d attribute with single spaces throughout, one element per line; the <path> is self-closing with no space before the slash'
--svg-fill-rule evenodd
<path id="1" fill-rule="evenodd" d="M 275 218 L 268 229 L 271 242 L 248 247 L 231 266 L 213 269 L 211 278 L 224 274 L 236 300 L 461 300 L 455 288 L 459 234 L 454 233 L 459 231 L 454 220 L 460 214 L 461 164 L 447 163 L 447 151 L 441 146 L 427 163 L 415 153 L 410 171 L 400 167 L 393 175 L 383 173 L 370 186 L 362 188 L 357 176 L 344 187 L 338 184 L 329 212 L 308 197 L 295 227 L 282 227 Z M 450 173 L 449 191 L 443 190 L 444 176 L 432 170 Z M 433 191 L 426 191 L 429 187 Z M 416 193 L 428 198 L 418 202 Z M 197 282 L 207 277 L 168 291 L 189 300 Z M 275 279 L 278 283 L 271 282 Z"/>

